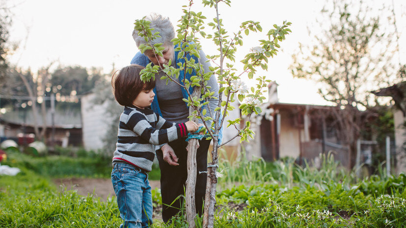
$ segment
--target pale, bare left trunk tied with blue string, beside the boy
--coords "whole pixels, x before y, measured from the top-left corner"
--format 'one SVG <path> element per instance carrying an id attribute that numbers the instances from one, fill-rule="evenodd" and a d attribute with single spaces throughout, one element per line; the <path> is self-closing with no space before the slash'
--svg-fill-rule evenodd
<path id="1" fill-rule="evenodd" d="M 196 87 L 193 91 L 192 97 L 200 96 L 200 87 Z M 189 115 L 193 112 L 192 106 L 189 107 Z M 197 123 L 197 119 L 193 118 L 192 121 Z M 186 207 L 186 219 L 189 224 L 189 228 L 195 228 L 196 218 L 196 202 L 195 202 L 195 189 L 196 189 L 196 152 L 199 148 L 198 139 L 190 139 L 188 142 L 188 178 L 186 179 L 186 192 L 185 192 L 185 207 Z"/>

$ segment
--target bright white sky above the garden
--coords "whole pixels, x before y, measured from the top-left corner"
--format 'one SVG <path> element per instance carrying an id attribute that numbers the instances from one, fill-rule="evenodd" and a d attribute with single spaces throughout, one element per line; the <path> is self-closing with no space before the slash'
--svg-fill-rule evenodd
<path id="1" fill-rule="evenodd" d="M 399 13 L 405 13 L 403 0 L 394 0 Z M 21 48 L 10 61 L 23 68 L 36 70 L 54 60 L 62 66 L 80 65 L 101 67 L 110 72 L 112 63 L 121 68 L 130 63 L 137 48 L 132 38 L 134 20 L 152 12 L 169 17 L 174 25 L 182 15 L 182 5 L 187 0 L 6 0 L 13 6 L 13 26 L 10 41 L 21 42 Z M 198 0 L 193 11 L 203 12 L 211 20 L 213 8 L 201 6 Z M 292 34 L 282 42 L 282 51 L 270 60 L 268 72 L 260 72 L 278 84 L 280 102 L 325 104 L 317 94 L 314 82 L 293 78 L 288 70 L 291 55 L 298 42 L 309 41 L 307 26 L 314 23 L 320 12 L 322 0 L 233 0 L 231 8 L 222 4 L 220 17 L 224 18 L 226 30 L 232 34 L 241 22 L 259 21 L 264 31 L 284 20 L 292 22 Z M 404 23 L 405 25 L 405 23 Z M 404 26 L 403 26 L 404 27 Z M 244 39 L 244 47 L 237 59 L 249 48 L 258 46 L 256 41 L 265 36 Z M 403 36 L 405 38 L 405 36 Z M 404 39 L 406 41 L 406 39 Z M 406 42 L 403 42 L 405 44 Z M 206 54 L 216 54 L 210 41 L 202 41 Z M 403 50 L 406 47 L 401 47 Z M 238 56 L 241 56 L 240 58 Z M 406 54 L 404 55 L 406 57 Z M 238 65 L 237 65 L 238 66 Z M 241 69 L 241 68 L 240 68 Z"/>

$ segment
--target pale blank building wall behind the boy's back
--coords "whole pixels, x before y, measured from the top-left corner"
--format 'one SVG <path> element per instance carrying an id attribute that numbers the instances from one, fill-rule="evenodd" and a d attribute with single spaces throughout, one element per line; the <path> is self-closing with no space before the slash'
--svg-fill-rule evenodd
<path id="1" fill-rule="evenodd" d="M 81 99 L 83 146 L 86 150 L 97 150 L 103 147 L 103 138 L 112 121 L 107 116 L 107 102 L 102 105 L 94 104 L 94 94 L 83 96 Z"/>

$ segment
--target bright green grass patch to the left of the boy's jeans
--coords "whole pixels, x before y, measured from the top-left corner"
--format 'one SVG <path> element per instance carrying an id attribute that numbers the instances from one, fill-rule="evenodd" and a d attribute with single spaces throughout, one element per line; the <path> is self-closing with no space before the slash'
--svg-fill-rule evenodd
<path id="1" fill-rule="evenodd" d="M 56 190 L 48 178 L 29 170 L 16 177 L 0 176 L 1 228 L 106 228 L 119 226 L 114 199 Z"/>

